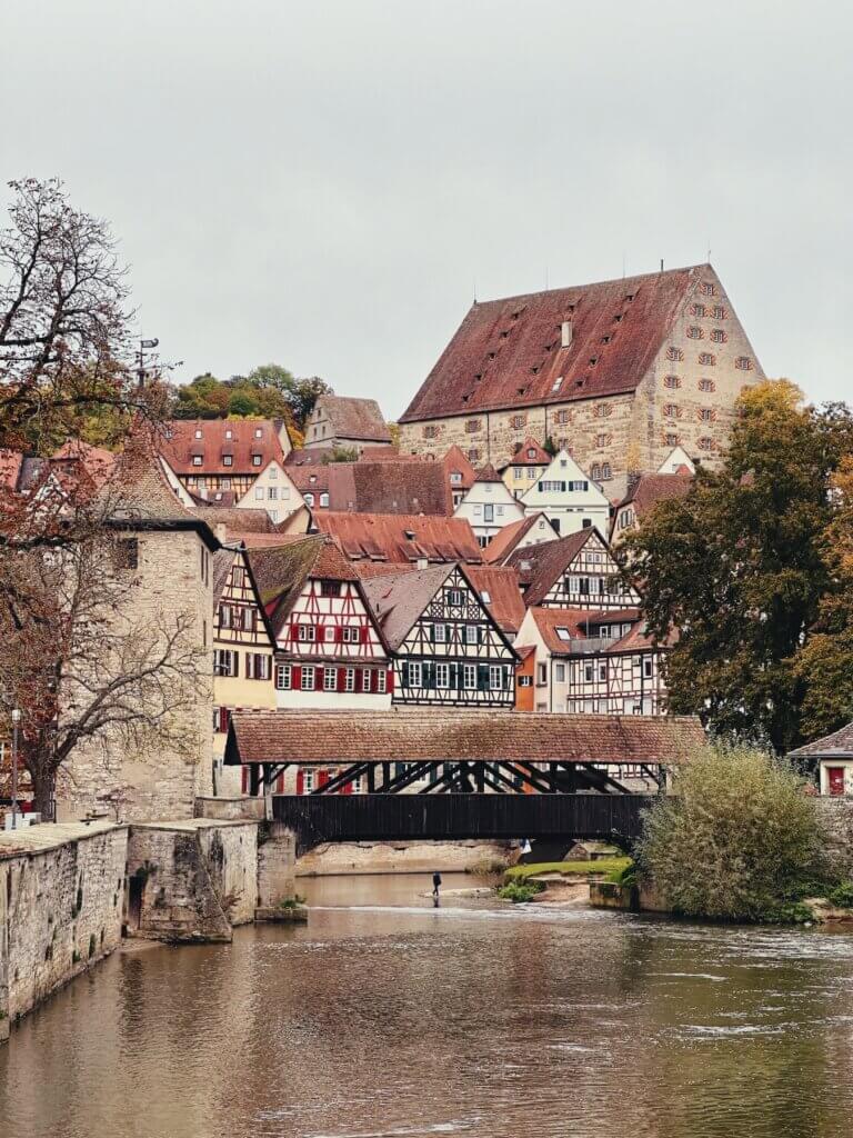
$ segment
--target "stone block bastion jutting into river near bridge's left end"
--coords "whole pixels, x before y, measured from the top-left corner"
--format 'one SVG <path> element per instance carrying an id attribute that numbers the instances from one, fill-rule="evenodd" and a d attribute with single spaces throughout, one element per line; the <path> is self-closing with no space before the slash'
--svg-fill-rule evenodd
<path id="1" fill-rule="evenodd" d="M 257 823 L 134 824 L 127 931 L 150 940 L 231 940 L 257 904 Z"/>

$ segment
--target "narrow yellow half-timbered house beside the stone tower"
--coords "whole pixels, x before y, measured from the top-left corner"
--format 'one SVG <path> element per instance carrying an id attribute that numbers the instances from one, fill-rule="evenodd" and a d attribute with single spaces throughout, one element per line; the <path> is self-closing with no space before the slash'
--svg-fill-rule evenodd
<path id="1" fill-rule="evenodd" d="M 225 785 L 232 768 L 222 765 L 231 712 L 275 707 L 275 640 L 245 547 L 225 545 L 212 561 L 214 778 L 216 791 L 229 794 L 240 790 Z"/>

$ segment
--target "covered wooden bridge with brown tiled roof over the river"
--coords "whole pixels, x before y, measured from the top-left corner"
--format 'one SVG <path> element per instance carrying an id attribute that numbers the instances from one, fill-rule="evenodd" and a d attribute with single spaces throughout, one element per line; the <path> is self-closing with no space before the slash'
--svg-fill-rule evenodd
<path id="1" fill-rule="evenodd" d="M 514 711 L 237 711 L 225 762 L 265 793 L 289 767 L 334 767 L 275 794 L 303 848 L 321 841 L 639 834 L 648 795 L 623 773 L 662 770 L 703 740 L 697 719 Z M 355 780 L 366 794 L 346 793 Z M 343 792 L 343 793 L 341 793 Z"/>

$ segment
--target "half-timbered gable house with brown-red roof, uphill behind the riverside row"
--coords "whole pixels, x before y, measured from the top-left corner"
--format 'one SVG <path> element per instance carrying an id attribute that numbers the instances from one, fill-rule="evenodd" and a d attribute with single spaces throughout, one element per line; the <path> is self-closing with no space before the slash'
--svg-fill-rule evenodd
<path id="1" fill-rule="evenodd" d="M 639 603 L 596 529 L 516 550 L 506 564 L 517 571 L 528 608 L 623 609 Z"/>

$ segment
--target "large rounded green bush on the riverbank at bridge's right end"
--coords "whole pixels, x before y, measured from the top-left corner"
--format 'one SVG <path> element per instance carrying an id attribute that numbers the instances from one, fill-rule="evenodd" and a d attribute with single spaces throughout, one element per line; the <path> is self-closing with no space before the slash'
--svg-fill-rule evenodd
<path id="1" fill-rule="evenodd" d="M 821 876 L 818 814 L 803 780 L 754 748 L 707 745 L 687 756 L 674 791 L 646 814 L 637 849 L 672 908 L 762 921 L 782 906 L 798 920 L 796 901 L 785 902 Z"/>

